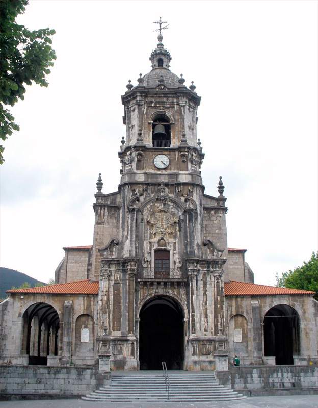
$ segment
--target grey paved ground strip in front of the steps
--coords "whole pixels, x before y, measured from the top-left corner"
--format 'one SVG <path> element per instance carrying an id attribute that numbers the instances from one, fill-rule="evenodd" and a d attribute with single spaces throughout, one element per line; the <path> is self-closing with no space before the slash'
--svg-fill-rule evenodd
<path id="1" fill-rule="evenodd" d="M 81 399 L 0 401 L 1 408 L 317 408 L 318 395 L 250 397 L 218 402 L 88 402 Z"/>

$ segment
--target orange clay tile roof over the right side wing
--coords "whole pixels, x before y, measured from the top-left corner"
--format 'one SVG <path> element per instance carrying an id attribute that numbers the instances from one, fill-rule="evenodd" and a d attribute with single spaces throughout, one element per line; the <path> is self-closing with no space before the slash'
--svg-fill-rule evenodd
<path id="1" fill-rule="evenodd" d="M 225 282 L 224 292 L 225 296 L 311 295 L 315 293 L 308 290 L 277 288 L 275 286 L 256 285 L 237 281 Z"/>

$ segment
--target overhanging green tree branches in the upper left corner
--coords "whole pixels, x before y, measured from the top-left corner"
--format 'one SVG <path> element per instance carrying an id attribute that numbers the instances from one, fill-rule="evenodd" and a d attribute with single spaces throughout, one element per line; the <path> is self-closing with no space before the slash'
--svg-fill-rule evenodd
<path id="1" fill-rule="evenodd" d="M 30 31 L 15 22 L 24 13 L 28 0 L 0 1 L 0 138 L 6 140 L 19 126 L 5 105 L 24 99 L 25 85 L 32 82 L 47 87 L 46 75 L 56 59 L 50 36 L 54 30 Z M 0 164 L 4 162 L 0 146 Z"/>

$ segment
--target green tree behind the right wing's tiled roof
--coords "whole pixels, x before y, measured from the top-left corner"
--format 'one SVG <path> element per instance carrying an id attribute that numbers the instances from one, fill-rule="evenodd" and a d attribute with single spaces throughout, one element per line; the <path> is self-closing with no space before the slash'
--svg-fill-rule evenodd
<path id="1" fill-rule="evenodd" d="M 318 252 L 312 252 L 311 258 L 304 265 L 283 272 L 281 277 L 276 273 L 276 286 L 280 288 L 304 289 L 316 292 L 318 300 Z"/>

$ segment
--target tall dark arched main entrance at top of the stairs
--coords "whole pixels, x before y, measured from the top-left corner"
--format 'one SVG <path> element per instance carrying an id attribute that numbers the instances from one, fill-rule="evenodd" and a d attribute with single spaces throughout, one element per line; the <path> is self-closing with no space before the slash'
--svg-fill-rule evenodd
<path id="1" fill-rule="evenodd" d="M 140 311 L 140 369 L 161 370 L 162 361 L 168 370 L 183 368 L 183 311 L 168 296 L 151 298 Z"/>

